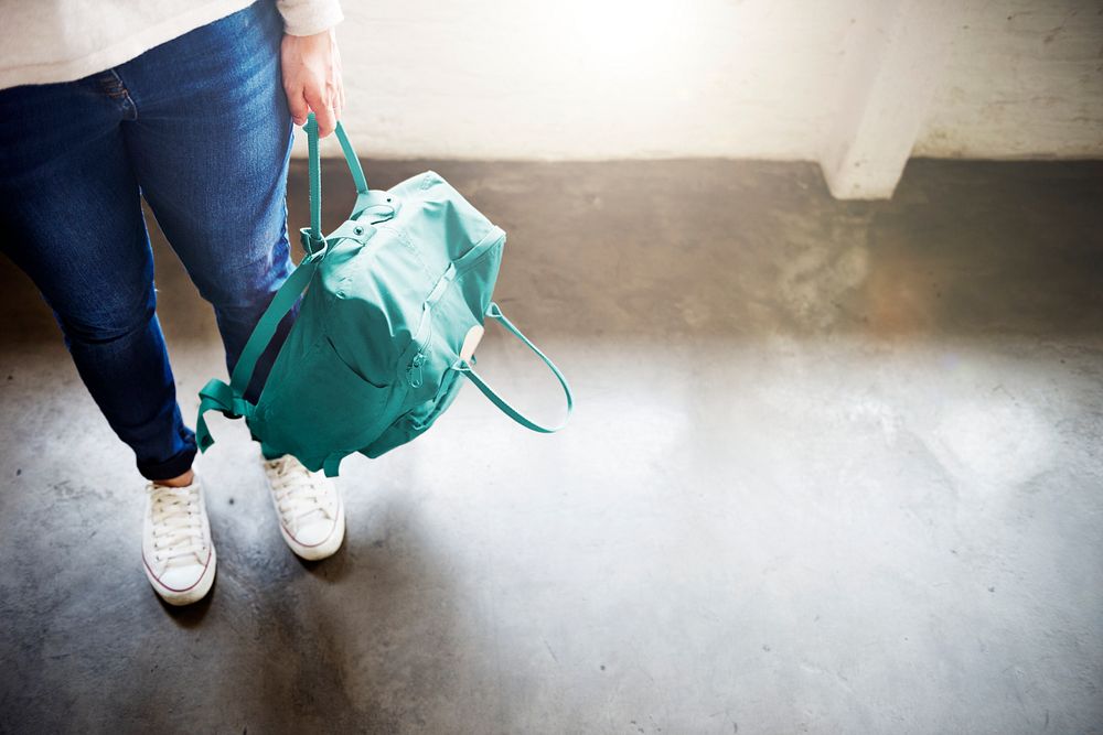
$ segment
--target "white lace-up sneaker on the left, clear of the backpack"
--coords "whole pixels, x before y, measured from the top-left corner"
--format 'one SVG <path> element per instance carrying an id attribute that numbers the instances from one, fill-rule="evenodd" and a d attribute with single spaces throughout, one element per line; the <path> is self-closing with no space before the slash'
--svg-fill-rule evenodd
<path id="1" fill-rule="evenodd" d="M 146 485 L 142 565 L 170 605 L 202 599 L 214 583 L 215 553 L 199 478 L 186 487 Z"/>

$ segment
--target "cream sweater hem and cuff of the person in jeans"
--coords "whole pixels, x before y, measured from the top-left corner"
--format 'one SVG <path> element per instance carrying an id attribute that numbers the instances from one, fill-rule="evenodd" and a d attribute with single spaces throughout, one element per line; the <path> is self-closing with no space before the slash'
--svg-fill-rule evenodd
<path id="1" fill-rule="evenodd" d="M 291 35 L 321 33 L 342 20 L 340 0 L 275 1 Z M 0 0 L 0 89 L 103 72 L 251 2 Z"/>

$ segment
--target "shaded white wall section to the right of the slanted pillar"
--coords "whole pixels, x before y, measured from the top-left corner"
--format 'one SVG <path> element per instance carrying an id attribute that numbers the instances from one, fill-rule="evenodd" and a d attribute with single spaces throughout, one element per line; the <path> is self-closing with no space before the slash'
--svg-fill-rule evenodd
<path id="1" fill-rule="evenodd" d="M 1103 2 L 976 2 L 915 155 L 1103 158 Z"/>

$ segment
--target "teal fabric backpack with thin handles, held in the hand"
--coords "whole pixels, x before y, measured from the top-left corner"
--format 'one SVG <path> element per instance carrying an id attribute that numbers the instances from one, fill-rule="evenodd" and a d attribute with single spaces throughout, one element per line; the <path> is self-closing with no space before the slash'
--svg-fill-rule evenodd
<path id="1" fill-rule="evenodd" d="M 377 457 L 425 432 L 452 403 L 463 378 L 533 431 L 569 418 L 566 378 L 491 301 L 505 233 L 429 171 L 387 190 L 370 190 L 356 153 L 336 136 L 356 184 L 347 221 L 321 235 L 318 123 L 306 126 L 310 229 L 306 257 L 272 299 L 242 350 L 229 385 L 200 391 L 196 440 L 214 440 L 210 410 L 245 420 L 267 456 L 293 454 L 334 476 L 341 460 Z M 257 402 L 245 400 L 257 358 L 306 291 Z M 474 371 L 473 349 L 486 316 L 524 342 L 559 380 L 567 418 L 543 426 L 510 406 Z"/>

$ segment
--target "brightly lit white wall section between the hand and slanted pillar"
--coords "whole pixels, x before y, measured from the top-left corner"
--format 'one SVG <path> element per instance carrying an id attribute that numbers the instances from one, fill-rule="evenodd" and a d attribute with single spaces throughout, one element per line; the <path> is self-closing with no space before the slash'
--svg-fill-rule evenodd
<path id="1" fill-rule="evenodd" d="M 358 147 L 815 159 L 860 0 L 346 0 Z"/>

